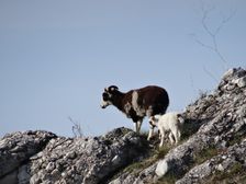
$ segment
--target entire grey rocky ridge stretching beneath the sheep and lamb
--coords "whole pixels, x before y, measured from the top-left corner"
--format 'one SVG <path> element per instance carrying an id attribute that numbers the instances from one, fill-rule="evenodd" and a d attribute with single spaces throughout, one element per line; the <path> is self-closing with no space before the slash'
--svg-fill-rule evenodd
<path id="1" fill-rule="evenodd" d="M 90 138 L 7 135 L 0 183 L 246 183 L 246 70 L 228 70 L 183 117 L 182 140 L 167 151 L 126 128 Z"/>

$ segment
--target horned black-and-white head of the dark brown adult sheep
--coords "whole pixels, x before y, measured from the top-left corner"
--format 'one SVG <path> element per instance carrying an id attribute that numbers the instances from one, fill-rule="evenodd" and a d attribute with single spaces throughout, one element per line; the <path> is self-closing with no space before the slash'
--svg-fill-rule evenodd
<path id="1" fill-rule="evenodd" d="M 104 88 L 104 92 L 102 93 L 102 102 L 101 107 L 105 108 L 109 105 L 112 105 L 113 96 L 115 92 L 118 92 L 119 88 L 116 85 L 110 85 L 109 88 Z"/>

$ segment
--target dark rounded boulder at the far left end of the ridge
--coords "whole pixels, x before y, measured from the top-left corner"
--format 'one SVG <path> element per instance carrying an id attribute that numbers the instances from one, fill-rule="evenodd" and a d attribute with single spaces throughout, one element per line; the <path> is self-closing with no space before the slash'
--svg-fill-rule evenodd
<path id="1" fill-rule="evenodd" d="M 16 183 L 22 165 L 56 136 L 47 131 L 14 133 L 0 140 L 0 183 Z"/>

